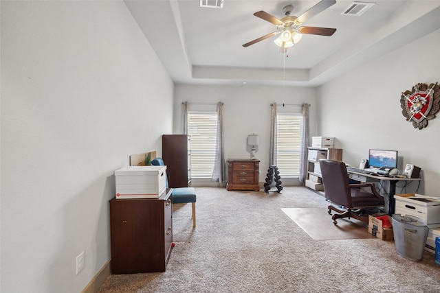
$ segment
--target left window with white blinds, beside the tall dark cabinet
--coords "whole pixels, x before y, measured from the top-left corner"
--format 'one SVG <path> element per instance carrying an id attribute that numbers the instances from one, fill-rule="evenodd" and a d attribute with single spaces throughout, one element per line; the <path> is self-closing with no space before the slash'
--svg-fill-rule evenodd
<path id="1" fill-rule="evenodd" d="M 191 178 L 211 178 L 214 169 L 217 112 L 188 112 Z"/>

